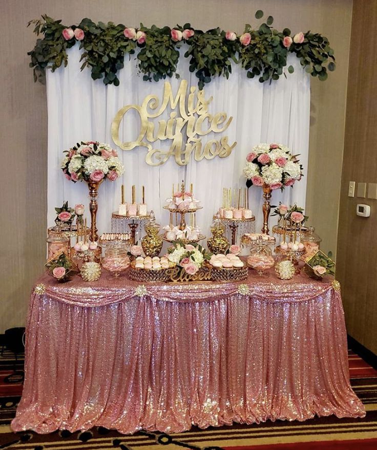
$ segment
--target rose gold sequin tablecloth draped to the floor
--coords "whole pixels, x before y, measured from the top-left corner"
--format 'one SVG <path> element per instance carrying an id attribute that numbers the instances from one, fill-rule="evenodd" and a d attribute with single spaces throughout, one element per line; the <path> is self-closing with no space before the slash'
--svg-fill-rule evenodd
<path id="1" fill-rule="evenodd" d="M 202 283 L 135 292 L 127 275 L 105 272 L 91 284 L 47 275 L 38 283 L 46 290 L 30 301 L 14 431 L 171 433 L 365 415 L 349 384 L 341 295 L 330 282 L 250 274 L 240 290 Z"/>

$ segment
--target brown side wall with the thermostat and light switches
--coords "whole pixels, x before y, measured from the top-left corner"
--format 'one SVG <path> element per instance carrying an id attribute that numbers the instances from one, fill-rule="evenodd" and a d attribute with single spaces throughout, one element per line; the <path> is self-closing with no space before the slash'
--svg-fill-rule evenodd
<path id="1" fill-rule="evenodd" d="M 377 183 L 377 0 L 358 0 L 352 17 L 341 186 L 338 269 L 348 333 L 377 354 L 377 200 L 348 197 L 349 181 Z M 365 45 L 368 42 L 368 45 Z M 369 218 L 356 205 L 371 207 Z"/>

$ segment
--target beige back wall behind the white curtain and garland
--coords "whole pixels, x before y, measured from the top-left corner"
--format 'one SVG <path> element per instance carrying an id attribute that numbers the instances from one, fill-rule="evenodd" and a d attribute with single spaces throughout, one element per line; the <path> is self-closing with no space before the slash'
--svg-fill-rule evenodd
<path id="1" fill-rule="evenodd" d="M 141 6 L 140 6 L 141 5 Z M 47 114 L 43 85 L 33 83 L 26 52 L 35 35 L 26 23 L 48 13 L 71 25 L 85 16 L 127 25 L 191 22 L 243 31 L 263 9 L 277 28 L 328 36 L 337 70 L 312 80 L 307 211 L 326 250 L 336 248 L 352 0 L 0 0 L 0 331 L 24 323 L 30 289 L 43 270 L 46 230 Z M 6 169 L 5 169 L 6 168 Z"/>

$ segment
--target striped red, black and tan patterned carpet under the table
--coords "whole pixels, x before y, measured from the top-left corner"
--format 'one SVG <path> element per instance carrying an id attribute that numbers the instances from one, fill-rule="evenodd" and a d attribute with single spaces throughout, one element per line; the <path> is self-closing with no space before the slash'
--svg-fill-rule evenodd
<path id="1" fill-rule="evenodd" d="M 377 449 L 377 371 L 349 351 L 351 384 L 366 406 L 364 419 L 338 419 L 335 416 L 305 422 L 266 422 L 259 425 L 223 426 L 165 435 L 137 433 L 120 435 L 106 428 L 90 432 L 55 432 L 49 435 L 12 433 L 11 418 L 22 392 L 20 384 L 6 384 L 13 357 L 4 351 L 0 357 L 0 449 L 12 450 L 376 450 Z M 19 365 L 20 367 L 20 365 Z"/>

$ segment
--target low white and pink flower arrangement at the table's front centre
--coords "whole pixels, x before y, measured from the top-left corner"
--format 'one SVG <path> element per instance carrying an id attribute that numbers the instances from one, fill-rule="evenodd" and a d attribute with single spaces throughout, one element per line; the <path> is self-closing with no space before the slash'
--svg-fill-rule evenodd
<path id="1" fill-rule="evenodd" d="M 177 241 L 167 250 L 167 259 L 177 264 L 189 275 L 195 275 L 212 253 L 200 244 L 185 244 Z"/>

